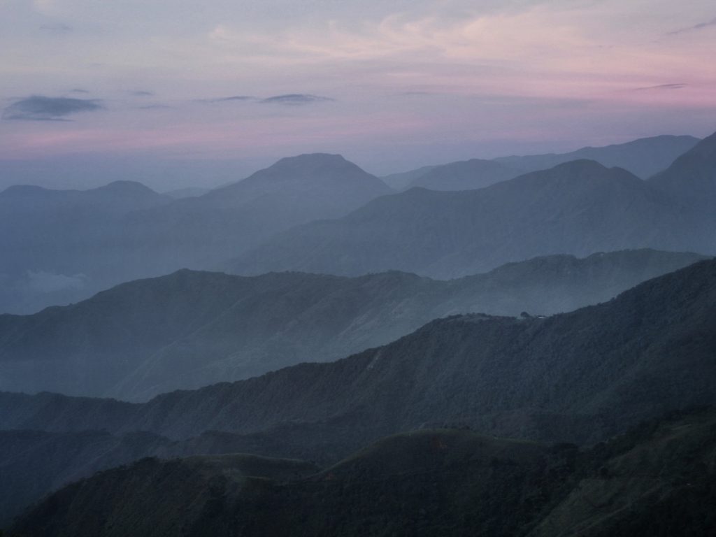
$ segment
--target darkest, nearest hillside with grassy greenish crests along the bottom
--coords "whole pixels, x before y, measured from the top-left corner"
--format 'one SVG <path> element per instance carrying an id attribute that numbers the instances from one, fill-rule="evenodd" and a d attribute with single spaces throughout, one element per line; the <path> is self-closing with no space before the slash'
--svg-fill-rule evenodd
<path id="1" fill-rule="evenodd" d="M 251 455 L 147 458 L 24 513 L 26 536 L 709 535 L 716 413 L 574 445 L 420 430 L 329 468 Z"/>

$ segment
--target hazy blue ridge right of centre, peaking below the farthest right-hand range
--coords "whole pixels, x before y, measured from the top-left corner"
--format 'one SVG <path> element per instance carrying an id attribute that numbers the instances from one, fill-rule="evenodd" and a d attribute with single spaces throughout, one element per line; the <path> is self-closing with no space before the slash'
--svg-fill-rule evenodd
<path id="1" fill-rule="evenodd" d="M 357 275 L 399 269 L 450 278 L 551 253 L 625 248 L 712 254 L 712 211 L 621 168 L 577 160 L 480 190 L 420 188 L 373 200 L 343 218 L 281 233 L 224 268 Z"/>

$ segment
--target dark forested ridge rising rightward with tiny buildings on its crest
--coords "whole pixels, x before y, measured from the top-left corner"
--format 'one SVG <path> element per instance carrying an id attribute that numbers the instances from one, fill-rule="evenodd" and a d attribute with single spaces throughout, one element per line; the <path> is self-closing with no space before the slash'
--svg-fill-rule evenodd
<path id="1" fill-rule="evenodd" d="M 596 442 L 716 401 L 715 304 L 716 261 L 700 261 L 569 314 L 453 316 L 338 362 L 144 404 L 2 393 L 0 428 L 146 430 L 173 439 L 221 430 L 264 455 L 314 460 L 445 423 Z"/>

